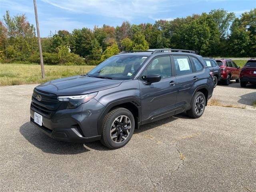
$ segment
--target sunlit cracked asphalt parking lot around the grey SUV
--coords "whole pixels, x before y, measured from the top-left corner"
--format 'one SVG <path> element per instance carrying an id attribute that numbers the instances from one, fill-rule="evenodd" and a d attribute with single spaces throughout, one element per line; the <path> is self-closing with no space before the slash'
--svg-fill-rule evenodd
<path id="1" fill-rule="evenodd" d="M 121 149 L 48 138 L 30 124 L 35 85 L 0 88 L 0 191 L 256 191 L 256 86 L 217 86 L 207 106 L 141 126 Z"/>

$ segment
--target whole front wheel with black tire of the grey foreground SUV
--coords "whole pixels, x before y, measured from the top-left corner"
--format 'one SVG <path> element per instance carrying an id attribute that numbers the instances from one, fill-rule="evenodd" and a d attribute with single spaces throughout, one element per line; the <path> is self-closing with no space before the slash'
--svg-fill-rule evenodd
<path id="1" fill-rule="evenodd" d="M 126 108 L 116 108 L 108 112 L 103 120 L 100 142 L 110 149 L 121 148 L 132 138 L 134 128 L 132 113 Z"/>

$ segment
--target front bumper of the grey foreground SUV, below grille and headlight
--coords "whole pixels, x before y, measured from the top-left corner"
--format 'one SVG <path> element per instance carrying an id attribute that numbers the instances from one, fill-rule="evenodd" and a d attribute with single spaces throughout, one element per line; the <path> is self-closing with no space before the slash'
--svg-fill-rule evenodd
<path id="1" fill-rule="evenodd" d="M 66 142 L 90 142 L 100 140 L 97 122 L 105 106 L 92 99 L 75 109 L 57 110 L 48 117 L 30 106 L 30 122 L 55 140 Z M 42 115 L 42 126 L 34 122 L 34 112 Z"/>

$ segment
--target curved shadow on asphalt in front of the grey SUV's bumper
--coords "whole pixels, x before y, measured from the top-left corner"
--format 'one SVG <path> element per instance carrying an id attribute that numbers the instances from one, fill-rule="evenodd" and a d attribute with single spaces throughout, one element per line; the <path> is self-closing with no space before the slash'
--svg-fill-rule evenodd
<path id="1" fill-rule="evenodd" d="M 46 153 L 68 155 L 90 151 L 82 143 L 56 141 L 40 132 L 30 122 L 26 122 L 20 127 L 20 134 L 36 148 Z"/>

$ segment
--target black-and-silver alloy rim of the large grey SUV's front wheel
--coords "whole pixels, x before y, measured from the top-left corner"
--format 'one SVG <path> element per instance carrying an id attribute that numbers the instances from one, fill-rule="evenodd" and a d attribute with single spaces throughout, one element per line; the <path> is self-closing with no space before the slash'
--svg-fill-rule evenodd
<path id="1" fill-rule="evenodd" d="M 115 118 L 110 128 L 110 137 L 115 143 L 121 143 L 128 138 L 131 131 L 131 120 L 126 115 Z"/>

